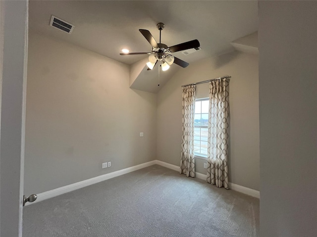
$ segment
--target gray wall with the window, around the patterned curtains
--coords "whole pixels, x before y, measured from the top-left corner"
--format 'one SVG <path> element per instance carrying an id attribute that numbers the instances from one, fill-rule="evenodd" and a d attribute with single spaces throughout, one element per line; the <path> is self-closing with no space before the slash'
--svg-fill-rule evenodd
<path id="1" fill-rule="evenodd" d="M 204 59 L 179 70 L 158 93 L 157 158 L 179 165 L 182 134 L 181 85 L 232 76 L 230 80 L 229 181 L 251 189 L 260 185 L 258 56 L 232 52 Z M 204 88 L 205 87 L 205 88 Z M 208 91 L 209 84 L 197 87 Z M 196 159 L 196 171 L 206 174 L 205 160 Z"/>

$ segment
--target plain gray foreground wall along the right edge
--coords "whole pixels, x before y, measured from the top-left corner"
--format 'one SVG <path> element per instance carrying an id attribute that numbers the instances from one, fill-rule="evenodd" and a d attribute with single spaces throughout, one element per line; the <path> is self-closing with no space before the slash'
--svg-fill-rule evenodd
<path id="1" fill-rule="evenodd" d="M 317 1 L 259 1 L 262 237 L 317 233 Z"/>

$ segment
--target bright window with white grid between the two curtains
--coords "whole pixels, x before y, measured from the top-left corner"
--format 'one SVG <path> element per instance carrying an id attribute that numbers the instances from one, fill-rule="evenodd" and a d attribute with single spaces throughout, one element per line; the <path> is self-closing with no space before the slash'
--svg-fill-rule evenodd
<path id="1" fill-rule="evenodd" d="M 195 101 L 194 118 L 194 153 L 196 156 L 207 157 L 208 145 L 208 110 L 209 99 Z"/>

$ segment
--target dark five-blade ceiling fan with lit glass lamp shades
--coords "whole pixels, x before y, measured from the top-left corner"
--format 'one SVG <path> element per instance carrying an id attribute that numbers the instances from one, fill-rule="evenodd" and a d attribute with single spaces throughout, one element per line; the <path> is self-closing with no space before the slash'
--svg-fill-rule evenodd
<path id="1" fill-rule="evenodd" d="M 149 41 L 149 43 L 152 46 L 151 52 L 139 52 L 139 53 L 120 53 L 120 55 L 136 55 L 136 54 L 148 54 L 149 55 L 149 62 L 147 63 L 148 70 L 152 70 L 155 65 L 159 62 L 159 66 L 162 67 L 162 71 L 166 71 L 169 69 L 169 66 L 173 63 L 186 68 L 189 64 L 179 58 L 176 58 L 171 55 L 171 53 L 190 49 L 190 48 L 196 48 L 198 49 L 200 46 L 200 43 L 198 40 L 191 40 L 184 43 L 176 44 L 173 46 L 168 47 L 166 44 L 160 42 L 160 34 L 161 30 L 164 29 L 163 23 L 158 23 L 157 28 L 159 29 L 159 43 L 153 38 L 150 31 L 139 29 L 141 34 L 145 37 L 146 40 Z"/>

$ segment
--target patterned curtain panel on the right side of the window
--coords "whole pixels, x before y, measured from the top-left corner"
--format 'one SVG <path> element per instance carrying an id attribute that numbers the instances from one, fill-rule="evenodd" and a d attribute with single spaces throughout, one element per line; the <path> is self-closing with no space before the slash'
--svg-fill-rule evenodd
<path id="1" fill-rule="evenodd" d="M 210 82 L 207 182 L 228 189 L 229 79 Z"/>

